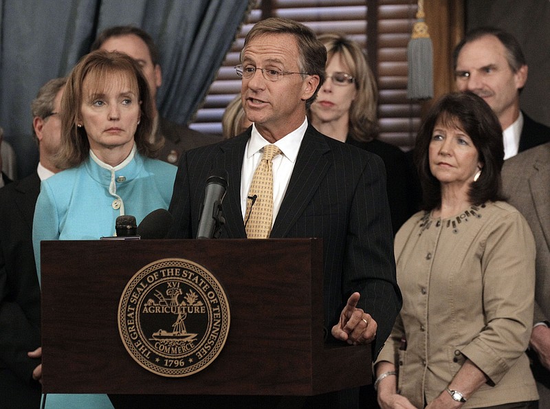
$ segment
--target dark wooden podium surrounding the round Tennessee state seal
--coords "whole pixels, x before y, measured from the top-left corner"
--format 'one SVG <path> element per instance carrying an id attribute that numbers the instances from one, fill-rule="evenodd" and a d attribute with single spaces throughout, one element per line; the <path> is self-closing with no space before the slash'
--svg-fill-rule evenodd
<path id="1" fill-rule="evenodd" d="M 311 396 L 369 384 L 370 346 L 325 344 L 321 254 L 318 239 L 44 241 L 43 392 Z M 208 269 L 230 304 L 221 353 L 186 377 L 142 368 L 118 331 L 124 287 L 162 258 Z"/>

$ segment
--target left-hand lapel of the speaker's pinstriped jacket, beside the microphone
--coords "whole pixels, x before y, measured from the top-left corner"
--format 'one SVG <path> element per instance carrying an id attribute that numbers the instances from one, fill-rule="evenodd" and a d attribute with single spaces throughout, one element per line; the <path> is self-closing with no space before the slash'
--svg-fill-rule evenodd
<path id="1" fill-rule="evenodd" d="M 230 239 L 246 239 L 243 214 L 241 212 L 241 170 L 245 147 L 250 138 L 250 129 L 234 143 L 223 144 L 223 155 L 217 159 L 217 166 L 228 171 L 228 191 L 223 199 L 223 216 L 225 217 L 225 231 Z"/>

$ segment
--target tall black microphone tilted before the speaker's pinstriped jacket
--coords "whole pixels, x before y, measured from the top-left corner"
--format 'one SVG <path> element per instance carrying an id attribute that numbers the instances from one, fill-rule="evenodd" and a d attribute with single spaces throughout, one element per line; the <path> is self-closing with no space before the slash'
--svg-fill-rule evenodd
<path id="1" fill-rule="evenodd" d="M 224 223 L 221 217 L 221 201 L 228 188 L 228 173 L 225 169 L 212 170 L 204 188 L 204 202 L 199 220 L 197 239 L 212 239 Z"/>

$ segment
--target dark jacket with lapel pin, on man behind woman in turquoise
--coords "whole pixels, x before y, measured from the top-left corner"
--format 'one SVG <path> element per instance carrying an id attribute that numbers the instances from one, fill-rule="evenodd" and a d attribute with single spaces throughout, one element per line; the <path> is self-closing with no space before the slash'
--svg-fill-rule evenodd
<path id="1" fill-rule="evenodd" d="M 177 165 L 181 154 L 185 151 L 220 142 L 221 136 L 216 137 L 200 133 L 188 128 L 188 126 L 170 122 L 166 118 L 159 118 L 157 139 L 164 142 L 157 159 Z"/>

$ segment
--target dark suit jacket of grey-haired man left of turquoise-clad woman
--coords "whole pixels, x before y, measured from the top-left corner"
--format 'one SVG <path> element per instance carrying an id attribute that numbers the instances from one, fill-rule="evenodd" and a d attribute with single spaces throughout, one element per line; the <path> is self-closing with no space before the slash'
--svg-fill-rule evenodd
<path id="1" fill-rule="evenodd" d="M 40 363 L 27 356 L 41 344 L 40 288 L 32 251 L 32 218 L 40 179 L 32 175 L 0 189 L 0 406 L 38 408 L 32 380 Z"/>

